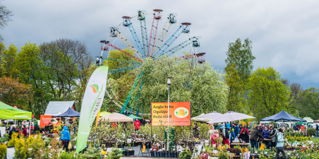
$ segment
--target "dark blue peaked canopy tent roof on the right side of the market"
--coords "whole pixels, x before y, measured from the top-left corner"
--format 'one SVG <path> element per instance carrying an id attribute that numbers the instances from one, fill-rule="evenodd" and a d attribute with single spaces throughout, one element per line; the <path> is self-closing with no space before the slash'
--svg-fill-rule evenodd
<path id="1" fill-rule="evenodd" d="M 307 120 L 304 120 L 304 119 L 300 119 L 300 118 L 297 118 L 295 116 L 292 116 L 290 114 L 288 114 L 285 110 L 282 110 L 281 112 L 275 114 L 275 115 L 272 115 L 272 116 L 269 116 L 269 117 L 266 117 L 264 119 L 260 119 L 260 121 L 294 121 L 294 122 L 307 122 Z"/>

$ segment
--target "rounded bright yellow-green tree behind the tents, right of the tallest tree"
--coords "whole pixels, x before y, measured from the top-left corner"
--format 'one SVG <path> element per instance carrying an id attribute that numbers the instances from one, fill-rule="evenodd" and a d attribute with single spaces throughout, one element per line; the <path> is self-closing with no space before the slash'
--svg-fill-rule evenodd
<path id="1" fill-rule="evenodd" d="M 258 120 L 274 115 L 289 106 L 289 86 L 272 67 L 258 68 L 248 79 L 249 106 Z"/>

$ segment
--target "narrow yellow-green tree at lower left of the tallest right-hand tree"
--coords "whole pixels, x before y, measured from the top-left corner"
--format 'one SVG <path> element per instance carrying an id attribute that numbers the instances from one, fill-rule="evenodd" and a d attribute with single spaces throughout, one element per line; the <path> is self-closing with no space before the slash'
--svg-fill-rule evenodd
<path id="1" fill-rule="evenodd" d="M 229 87 L 226 109 L 228 111 L 240 112 L 243 107 L 243 81 L 239 78 L 236 66 L 233 63 L 229 64 L 225 73 L 225 82 Z"/>

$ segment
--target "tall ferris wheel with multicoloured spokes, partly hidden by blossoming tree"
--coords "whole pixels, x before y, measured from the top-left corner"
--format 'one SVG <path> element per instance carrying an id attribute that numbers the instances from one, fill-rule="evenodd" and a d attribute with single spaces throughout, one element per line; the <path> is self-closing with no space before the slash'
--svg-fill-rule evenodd
<path id="1" fill-rule="evenodd" d="M 121 114 L 133 113 L 138 116 L 139 113 L 144 113 L 140 105 L 133 109 L 130 102 L 134 103 L 140 96 L 140 93 L 137 92 L 141 91 L 143 86 L 141 80 L 144 80 L 144 74 L 141 72 L 141 67 L 145 59 L 152 58 L 156 61 L 161 56 L 173 56 L 181 49 L 189 49 L 191 50 L 190 55 L 177 57 L 177 59 L 193 58 L 195 62 L 195 58 L 197 58 L 198 63 L 205 63 L 203 56 L 205 53 L 197 53 L 196 51 L 196 47 L 200 47 L 199 39 L 201 37 L 189 35 L 191 23 L 177 23 L 176 13 L 168 13 L 166 19 L 161 15 L 163 10 L 154 9 L 153 11 L 154 13 L 147 13 L 145 10 L 138 10 L 138 14 L 135 16 L 123 16 L 123 22 L 110 27 L 111 33 L 108 38 L 100 41 L 102 51 L 96 59 L 96 64 L 108 66 L 115 62 L 120 66 L 120 68 L 111 69 L 108 72 L 108 75 L 119 74 L 119 76 L 115 79 L 110 79 L 108 76 L 105 98 L 110 101 L 107 104 L 119 107 Z M 147 27 L 147 19 L 151 20 L 151 18 L 153 19 L 152 26 Z M 166 21 L 162 29 L 158 30 L 159 23 L 164 21 L 163 19 Z M 137 32 L 135 28 L 140 30 Z M 151 28 L 150 32 L 147 28 Z M 185 36 L 180 36 L 181 34 Z M 179 41 L 179 44 L 175 44 L 175 41 Z M 130 60 L 112 58 L 110 56 L 112 50 L 121 52 Z M 102 57 L 105 54 L 107 56 Z M 123 99 L 123 97 L 126 98 Z"/>

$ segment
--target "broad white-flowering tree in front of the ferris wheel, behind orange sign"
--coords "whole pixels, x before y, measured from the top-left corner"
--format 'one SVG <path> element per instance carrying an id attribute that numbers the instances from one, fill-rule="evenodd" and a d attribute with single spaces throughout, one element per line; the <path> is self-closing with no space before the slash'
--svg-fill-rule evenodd
<path id="1" fill-rule="evenodd" d="M 176 57 L 162 57 L 155 61 L 146 59 L 142 65 L 142 89 L 136 88 L 133 95 L 138 96 L 136 94 L 139 93 L 140 97 L 131 103 L 133 107 L 137 109 L 140 105 L 140 112 L 151 113 L 152 102 L 167 100 L 165 77 L 173 77 L 170 101 L 190 101 L 192 117 L 211 111 L 225 113 L 228 86 L 222 72 L 214 70 L 209 62 L 198 64 L 193 60 L 180 60 Z"/>

